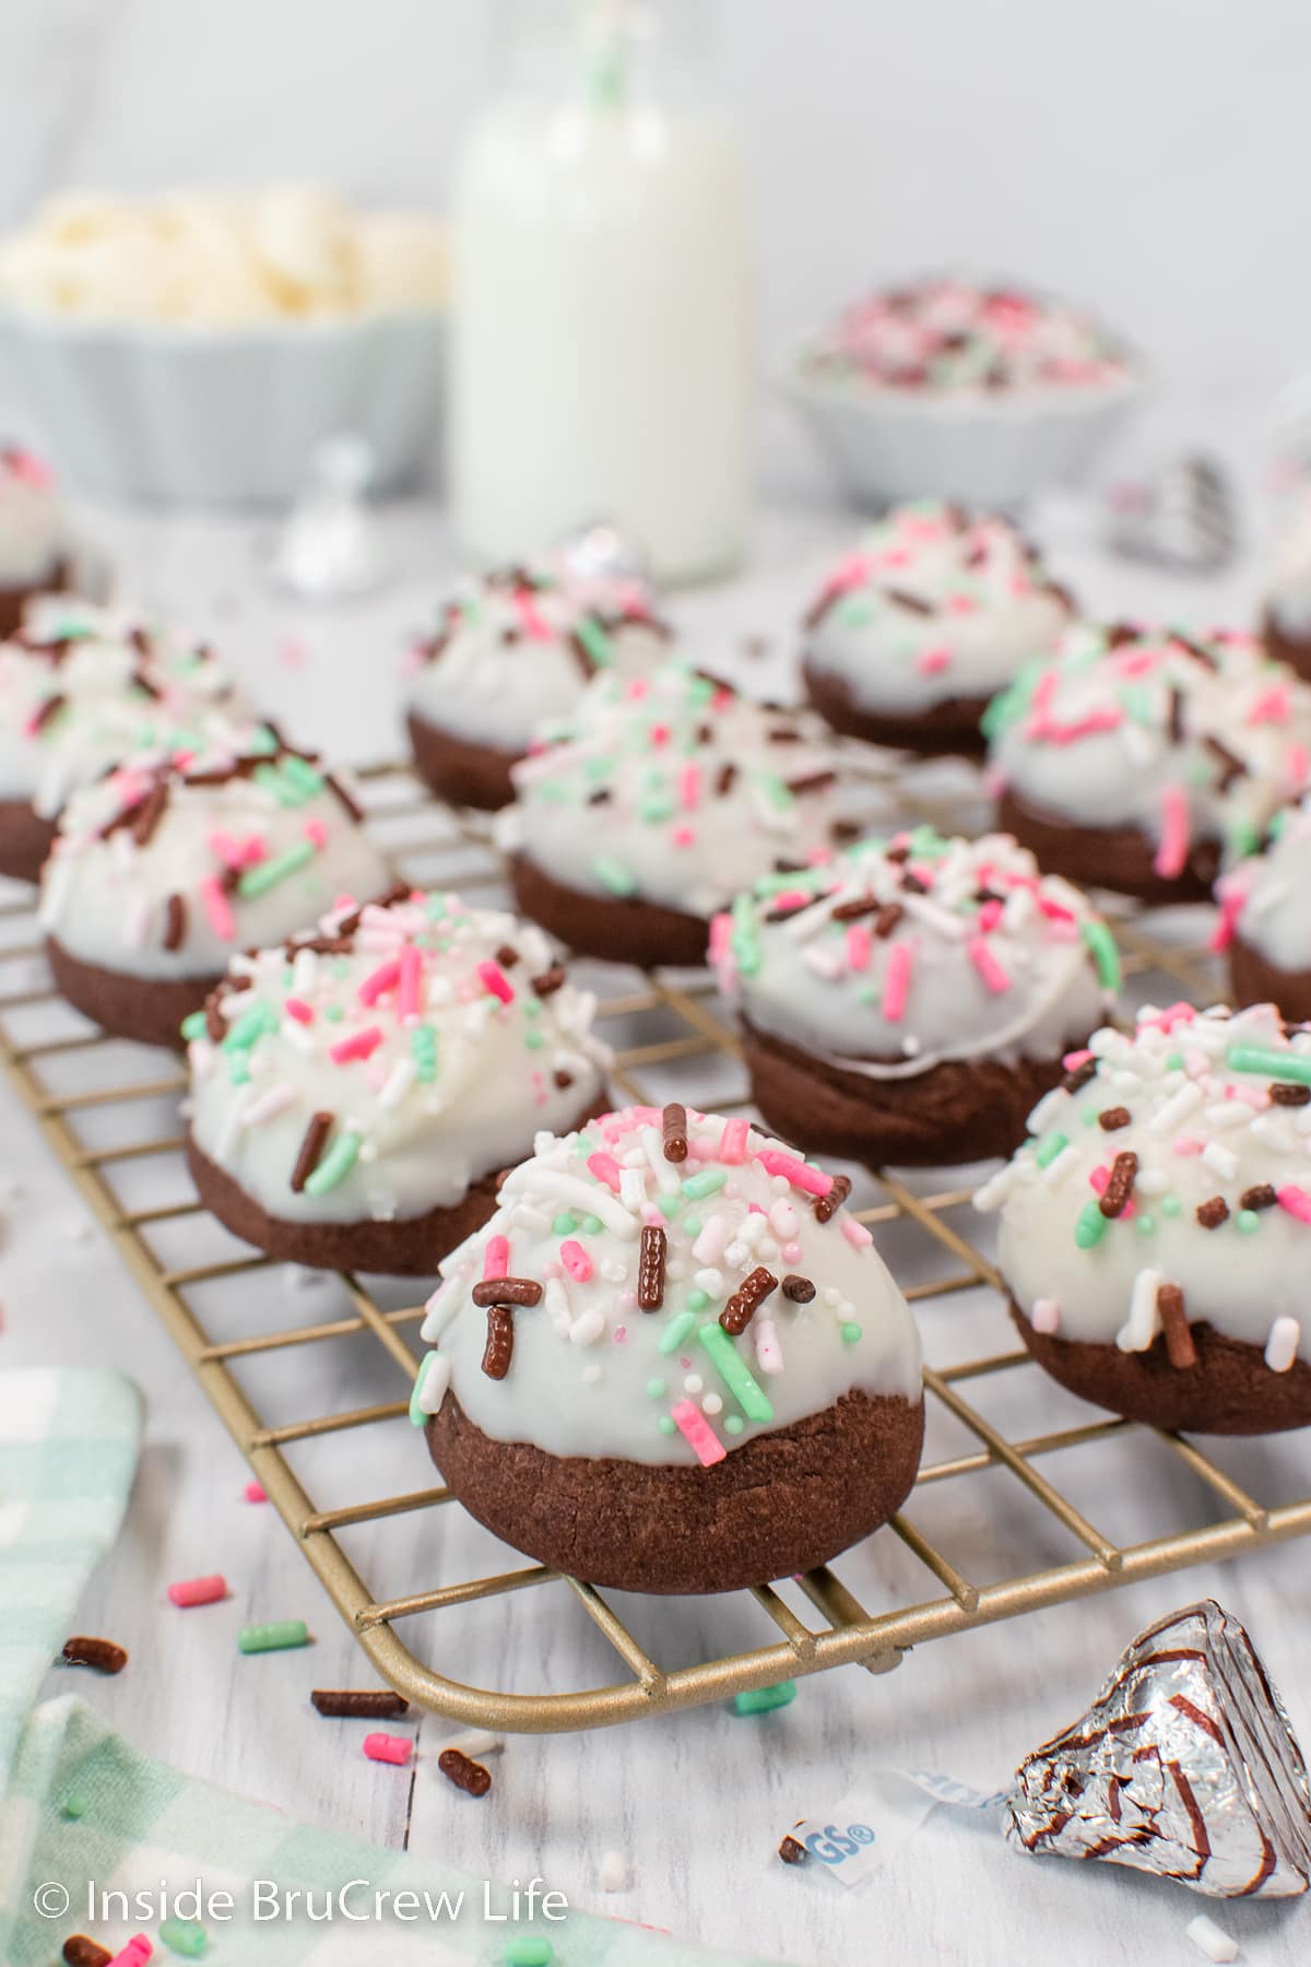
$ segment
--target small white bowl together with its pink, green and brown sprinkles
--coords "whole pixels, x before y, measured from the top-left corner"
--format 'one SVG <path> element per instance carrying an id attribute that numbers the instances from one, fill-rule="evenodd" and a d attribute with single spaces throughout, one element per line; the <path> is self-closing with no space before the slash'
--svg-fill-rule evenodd
<path id="1" fill-rule="evenodd" d="M 786 389 L 849 502 L 1012 507 L 1079 480 L 1144 393 L 1128 344 L 1065 301 L 932 275 L 841 309 Z"/>

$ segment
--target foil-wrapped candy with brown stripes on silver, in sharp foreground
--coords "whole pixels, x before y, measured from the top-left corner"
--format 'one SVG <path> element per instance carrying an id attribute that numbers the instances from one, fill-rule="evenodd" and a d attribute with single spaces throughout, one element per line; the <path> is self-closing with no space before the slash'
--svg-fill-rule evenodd
<path id="1" fill-rule="evenodd" d="M 1140 1633 L 1093 1705 L 1016 1770 L 1006 1839 L 1105 1859 L 1211 1898 L 1293 1898 L 1311 1877 L 1297 1737 L 1215 1599 Z"/>

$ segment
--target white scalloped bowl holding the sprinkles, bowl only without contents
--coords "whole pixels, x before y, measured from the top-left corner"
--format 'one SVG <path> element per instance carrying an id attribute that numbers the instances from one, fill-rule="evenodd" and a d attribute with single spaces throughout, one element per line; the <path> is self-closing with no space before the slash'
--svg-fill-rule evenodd
<path id="1" fill-rule="evenodd" d="M 1122 382 L 1087 387 L 934 393 L 824 382 L 794 362 L 784 389 L 853 506 L 1014 507 L 1081 480 L 1148 393 L 1148 376 L 1134 366 Z"/>

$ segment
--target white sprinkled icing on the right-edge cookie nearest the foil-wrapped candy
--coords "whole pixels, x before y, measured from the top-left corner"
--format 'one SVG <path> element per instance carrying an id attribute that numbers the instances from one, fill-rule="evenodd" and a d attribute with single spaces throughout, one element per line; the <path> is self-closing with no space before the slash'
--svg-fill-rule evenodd
<path id="1" fill-rule="evenodd" d="M 1077 1080 L 1091 1060 L 1095 1076 L 1048 1094 L 1032 1139 L 975 1196 L 1000 1208 L 1020 1310 L 1046 1300 L 1057 1338 L 1140 1351 L 1162 1330 L 1160 1286 L 1175 1284 L 1191 1324 L 1264 1349 L 1293 1320 L 1311 1359 L 1311 1105 L 1282 1103 L 1311 1088 L 1311 1031 L 1287 1037 L 1272 1005 L 1173 1005 L 1089 1044 L 1067 1064 Z M 1120 1155 L 1136 1157 L 1134 1178 L 1109 1218 Z"/>

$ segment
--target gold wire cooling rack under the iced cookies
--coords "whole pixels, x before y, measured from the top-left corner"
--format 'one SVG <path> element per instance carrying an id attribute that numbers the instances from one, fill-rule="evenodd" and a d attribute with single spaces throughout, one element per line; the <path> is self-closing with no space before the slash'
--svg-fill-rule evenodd
<path id="1" fill-rule="evenodd" d="M 487 844 L 434 808 L 403 767 L 375 767 L 362 775 L 362 783 L 371 822 L 407 875 L 428 885 L 460 887 L 464 893 L 489 891 L 499 883 L 499 865 Z M 969 797 L 977 801 L 977 783 L 969 785 L 973 787 Z M 940 799 L 908 791 L 906 779 L 896 781 L 894 789 L 888 779 L 884 797 L 894 803 L 902 820 L 930 818 L 941 826 L 963 822 L 965 828 L 971 824 L 965 812 L 969 797 L 961 799 L 959 793 L 943 806 Z M 413 836 L 415 826 L 421 828 L 419 838 L 397 834 L 401 828 Z M 1089 1410 L 1079 1408 L 1067 1426 L 1014 1438 L 1014 1430 L 989 1418 L 983 1410 L 987 1401 L 981 1402 L 977 1389 L 987 1393 L 1016 1383 L 1026 1373 L 1036 1381 L 1040 1375 L 1030 1365 L 1028 1353 L 1002 1349 L 926 1369 L 930 1418 L 936 1414 L 953 1424 L 957 1452 L 926 1460 L 908 1507 L 865 1546 L 888 1550 L 884 1540 L 896 1538 L 902 1546 L 900 1556 L 908 1554 L 906 1562 L 890 1566 L 896 1574 L 892 1605 L 867 1609 L 831 1566 L 792 1581 L 761 1585 L 753 1593 L 680 1601 L 684 1607 L 694 1603 L 698 1607 L 694 1642 L 688 1646 L 688 1635 L 682 1635 L 682 1652 L 690 1650 L 692 1656 L 662 1666 L 635 1637 L 633 1625 L 639 1621 L 633 1613 L 625 1619 L 615 1603 L 592 1585 L 558 1578 L 542 1566 L 517 1560 L 511 1570 L 499 1568 L 505 1548 L 491 1544 L 484 1532 L 476 1532 L 484 1538 L 482 1550 L 474 1544 L 468 1562 L 470 1540 L 442 1534 L 452 1526 L 452 1519 L 470 1524 L 450 1493 L 440 1485 L 403 1487 L 405 1479 L 413 1479 L 405 1471 L 423 1460 L 423 1446 L 411 1436 L 407 1420 L 409 1385 L 417 1371 L 409 1336 L 423 1318 L 421 1306 L 385 1308 L 379 1302 L 381 1292 L 366 1288 L 356 1277 L 342 1277 L 340 1288 L 346 1294 L 342 1316 L 318 1324 L 283 1326 L 277 1316 L 277 1282 L 271 1277 L 277 1267 L 265 1257 L 244 1251 L 208 1263 L 177 1263 L 161 1255 L 163 1231 L 181 1231 L 185 1253 L 208 1225 L 181 1162 L 181 1137 L 177 1131 L 159 1133 L 149 1125 L 161 1103 L 167 1103 L 165 1113 L 175 1115 L 177 1098 L 185 1090 L 183 1074 L 169 1060 L 142 1076 L 140 1048 L 116 1044 L 73 1019 L 43 976 L 35 924 L 29 938 L 28 924 L 31 924 L 29 899 L 0 903 L 4 932 L 0 978 L 12 978 L 18 966 L 22 985 L 0 985 L 0 1054 L 12 1084 L 116 1243 L 370 1662 L 419 1707 L 462 1725 L 544 1733 L 601 1727 L 664 1709 L 692 1707 L 849 1662 L 883 1674 L 896 1666 L 910 1646 L 930 1639 L 1158 1578 L 1189 1564 L 1236 1556 L 1311 1530 L 1309 1495 L 1260 1501 L 1234 1473 L 1175 1434 L 1154 1434 L 1107 1416 L 1089 1420 L 1085 1418 Z M 1195 940 L 1166 936 L 1154 919 L 1130 915 L 1116 921 L 1116 934 L 1126 978 L 1140 989 L 1166 987 L 1171 995 L 1199 999 L 1217 993 L 1209 958 Z M 26 940 L 10 940 L 14 936 Z M 619 976 L 623 978 L 623 972 Z M 653 1105 L 680 1098 L 692 1105 L 713 1105 L 715 1111 L 749 1107 L 735 1043 L 706 976 L 635 974 L 633 987 L 615 993 L 615 972 L 607 972 L 605 984 L 611 993 L 601 995 L 598 1025 L 603 1035 L 617 1039 L 613 1082 L 619 1092 Z M 63 1011 L 65 1023 L 47 1031 L 41 1015 L 55 1009 Z M 69 1019 L 73 1019 L 71 1029 Z M 114 1062 L 126 1060 L 130 1074 L 124 1076 L 122 1064 L 92 1072 L 90 1066 L 98 1056 L 104 1056 L 106 1066 L 110 1056 Z M 61 1088 L 59 1072 L 67 1080 L 69 1068 L 73 1086 Z M 92 1084 L 96 1078 L 104 1078 L 104 1084 Z M 653 1084 L 656 1078 L 662 1080 L 660 1086 Z M 122 1131 L 108 1139 L 96 1137 L 90 1123 L 104 1123 L 106 1115 L 114 1117 Z M 138 1115 L 143 1115 L 145 1123 L 140 1123 Z M 134 1198 L 128 1178 L 143 1164 L 169 1170 L 173 1176 L 169 1200 Z M 926 1332 L 934 1306 L 943 1306 L 963 1292 L 987 1292 L 997 1310 L 997 1273 L 969 1229 L 961 1227 L 961 1222 L 971 1222 L 971 1188 L 930 1186 L 920 1192 L 910 1180 L 888 1170 L 863 1172 L 867 1186 L 857 1190 L 853 1202 L 869 1196 L 869 1206 L 857 1214 L 861 1222 L 879 1229 L 881 1245 L 906 1294 L 918 1300 Z M 908 1235 L 918 1243 L 914 1263 L 906 1257 Z M 898 1237 L 904 1263 L 894 1249 Z M 924 1277 L 926 1253 L 938 1267 L 930 1277 Z M 254 1308 L 256 1330 L 236 1338 L 222 1338 L 210 1330 L 216 1320 L 202 1314 L 199 1300 L 218 1284 L 240 1284 L 242 1302 L 248 1312 Z M 265 1326 L 277 1330 L 263 1330 Z M 385 1369 L 395 1379 L 395 1399 L 265 1424 L 259 1412 L 263 1402 L 256 1404 L 256 1393 L 248 1385 L 252 1377 L 271 1375 L 279 1359 L 305 1359 L 305 1349 L 362 1341 L 377 1349 L 370 1365 Z M 1042 1381 L 1042 1389 L 1046 1395 L 1055 1395 L 1048 1381 Z M 1052 1418 L 1050 1399 L 1040 1412 L 1046 1420 Z M 332 1505 L 314 1501 L 309 1473 L 297 1467 L 295 1458 L 301 1450 L 338 1436 L 348 1436 L 360 1446 L 385 1434 L 395 1444 L 399 1430 L 405 1430 L 405 1454 L 395 1458 L 401 1485 L 385 1483 L 383 1493 L 371 1497 L 360 1497 L 352 1487 L 350 1501 Z M 1183 1463 L 1191 1477 L 1185 1489 L 1193 1499 L 1201 1499 L 1203 1520 L 1173 1524 L 1166 1534 L 1142 1542 L 1116 1538 L 1044 1473 L 1044 1465 L 1052 1467 L 1057 1461 L 1073 1469 L 1083 1467 L 1087 1456 L 1118 1458 L 1120 1452 L 1136 1456 L 1150 1444 L 1173 1460 L 1175 1473 Z M 342 1458 L 352 1460 L 338 1452 L 338 1477 Z M 352 1485 L 356 1479 L 364 1483 L 362 1461 L 364 1456 L 356 1454 Z M 1268 1467 L 1262 1467 L 1268 1475 Z M 1293 1491 L 1301 1489 L 1303 1473 L 1293 1467 Z M 1132 1463 L 1130 1479 L 1134 1487 L 1146 1487 L 1150 1475 L 1146 1467 Z M 930 1505 L 938 1493 L 949 1491 L 957 1507 L 947 1519 L 947 1528 L 951 1522 L 963 1522 L 965 1542 L 973 1552 L 979 1546 L 981 1520 L 997 1509 L 998 1483 L 1010 1487 L 1012 1499 L 1022 1491 L 1030 1520 L 1026 1562 L 1002 1566 L 1002 1574 L 989 1581 L 973 1581 L 963 1570 L 967 1560 L 959 1552 L 949 1554 L 941 1548 L 941 1544 L 953 1548 L 953 1538 L 936 1528 L 930 1534 L 926 1513 L 936 1524 L 943 1513 L 932 1513 Z M 1087 1489 L 1087 1481 L 1081 1487 Z M 411 1540 L 405 1580 L 413 1580 L 417 1566 L 432 1566 L 436 1580 L 427 1583 L 428 1572 L 419 1572 L 425 1578 L 419 1587 L 387 1597 L 371 1589 L 368 1578 L 373 1574 L 383 1526 L 399 1520 L 423 1530 Z M 959 1540 L 957 1536 L 955 1542 Z M 1055 1554 L 1055 1546 L 1065 1552 L 1063 1562 L 1034 1566 L 1034 1556 L 1048 1558 Z M 485 1560 L 487 1550 L 491 1560 Z M 458 1556 L 466 1562 L 458 1564 Z M 847 1576 L 849 1558 L 851 1554 L 837 1560 Z M 485 1568 L 485 1562 L 493 1568 Z M 552 1611 L 546 1603 L 548 1587 L 572 1595 L 596 1629 L 594 1640 L 599 1635 L 599 1642 L 592 1644 L 592 1654 L 599 1660 L 596 1686 L 509 1692 L 474 1686 L 440 1670 L 438 1662 L 452 1660 L 462 1625 L 474 1623 L 478 1646 L 485 1656 L 497 1650 L 495 1629 L 501 1629 L 503 1637 L 515 1607 L 529 1599 L 537 1617 L 515 1640 L 517 1658 L 527 1660 L 531 1668 L 541 1662 L 544 1676 L 546 1658 L 558 1658 L 560 1637 L 558 1605 L 556 1619 L 548 1617 Z M 928 1595 L 918 1595 L 926 1587 Z M 745 1633 L 741 1611 L 749 1599 L 757 1609 L 755 1627 L 763 1629 L 769 1642 L 721 1650 L 721 1633 L 733 1639 Z M 670 1601 L 625 1603 L 651 1609 L 655 1603 Z M 487 1605 L 497 1611 L 495 1629 L 487 1627 L 485 1617 L 482 1625 L 478 1623 Z M 745 1609 L 751 1611 L 751 1605 Z M 423 1633 L 428 1642 L 407 1642 L 403 1637 L 407 1627 L 411 1635 Z M 759 1633 L 753 1633 L 755 1637 Z M 499 1650 L 505 1652 L 503 1646 Z M 619 1678 L 613 1678 L 615 1656 Z M 501 1678 L 517 1676 L 507 1672 Z"/>

